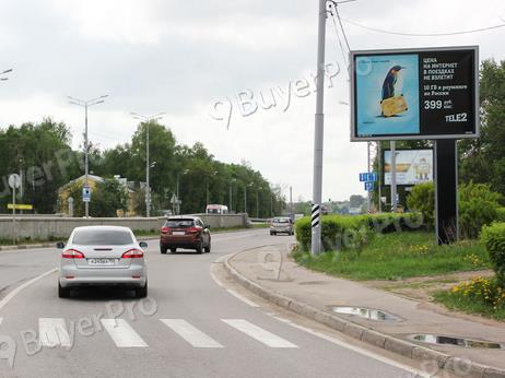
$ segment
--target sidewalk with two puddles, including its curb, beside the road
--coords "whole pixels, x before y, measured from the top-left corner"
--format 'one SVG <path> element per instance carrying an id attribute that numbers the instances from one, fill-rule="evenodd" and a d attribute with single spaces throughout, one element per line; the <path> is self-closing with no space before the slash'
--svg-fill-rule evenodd
<path id="1" fill-rule="evenodd" d="M 236 281 L 256 294 L 364 342 L 415 359 L 436 362 L 461 376 L 505 377 L 505 350 L 433 345 L 408 338 L 428 333 L 505 346 L 505 324 L 490 326 L 437 314 L 415 300 L 308 271 L 287 255 L 287 246 L 262 247 L 235 253 L 225 261 L 225 267 Z M 398 319 L 368 320 L 333 312 L 331 306 L 378 309 Z"/>

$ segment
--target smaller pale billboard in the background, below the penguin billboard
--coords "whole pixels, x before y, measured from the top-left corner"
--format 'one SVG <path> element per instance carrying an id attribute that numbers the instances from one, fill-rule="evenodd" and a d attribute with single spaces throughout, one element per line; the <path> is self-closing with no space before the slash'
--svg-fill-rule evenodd
<path id="1" fill-rule="evenodd" d="M 391 151 L 384 151 L 384 185 L 391 185 Z M 397 185 L 433 181 L 433 150 L 397 150 Z"/>

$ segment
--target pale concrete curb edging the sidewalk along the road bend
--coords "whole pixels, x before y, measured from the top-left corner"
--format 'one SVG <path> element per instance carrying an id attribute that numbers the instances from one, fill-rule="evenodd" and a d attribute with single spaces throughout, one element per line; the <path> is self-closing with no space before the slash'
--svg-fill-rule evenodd
<path id="1" fill-rule="evenodd" d="M 389 352 L 399 355 L 421 361 L 435 362 L 441 369 L 445 369 L 451 374 L 461 377 L 479 377 L 479 378 L 505 378 L 505 369 L 500 369 L 492 366 L 473 363 L 469 359 L 451 356 L 443 352 L 432 350 L 426 346 L 411 343 L 409 341 L 391 336 L 386 333 L 380 333 L 372 328 L 367 328 L 350 320 L 340 318 L 333 314 L 320 310 L 310 305 L 295 300 L 275 291 L 266 288 L 256 282 L 242 275 L 235 268 L 232 267 L 230 260 L 238 253 L 235 252 L 227 256 L 223 262 L 226 271 L 232 277 L 248 291 L 259 295 L 260 297 L 283 307 L 290 311 L 298 314 L 310 320 L 315 320 L 325 326 L 328 326 L 339 332 L 345 333 L 356 340 L 363 341 L 374 346 L 381 347 Z"/>

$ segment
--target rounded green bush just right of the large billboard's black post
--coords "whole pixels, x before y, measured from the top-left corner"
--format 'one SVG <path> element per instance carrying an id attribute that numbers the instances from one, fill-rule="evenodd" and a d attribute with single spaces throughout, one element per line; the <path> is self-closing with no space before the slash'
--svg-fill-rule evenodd
<path id="1" fill-rule="evenodd" d="M 459 188 L 459 232 L 463 238 L 479 237 L 482 226 L 497 217 L 500 193 L 491 191 L 485 184 L 461 185 Z"/>

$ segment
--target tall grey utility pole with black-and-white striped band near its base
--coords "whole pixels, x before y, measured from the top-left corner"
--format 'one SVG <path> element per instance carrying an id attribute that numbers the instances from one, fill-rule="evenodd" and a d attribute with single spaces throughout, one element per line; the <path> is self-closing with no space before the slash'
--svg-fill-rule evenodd
<path id="1" fill-rule="evenodd" d="M 322 198 L 322 144 L 324 144 L 324 102 L 325 102 L 325 43 L 326 43 L 326 1 L 319 0 L 319 21 L 317 36 L 317 81 L 316 116 L 314 127 L 314 177 L 312 206 L 312 255 L 321 251 L 321 225 L 319 222 Z"/>

